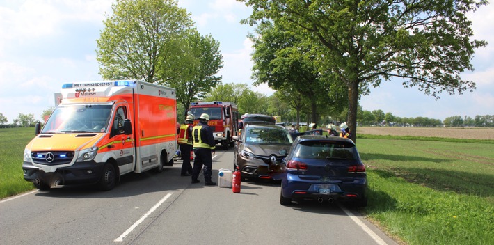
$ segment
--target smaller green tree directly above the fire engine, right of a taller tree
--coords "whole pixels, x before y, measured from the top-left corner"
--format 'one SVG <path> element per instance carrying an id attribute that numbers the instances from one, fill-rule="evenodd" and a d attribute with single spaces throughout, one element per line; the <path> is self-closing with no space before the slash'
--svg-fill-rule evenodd
<path id="1" fill-rule="evenodd" d="M 175 77 L 164 72 L 160 77 L 166 77 L 166 85 L 177 89 L 177 102 L 189 109 L 191 102 L 202 99 L 221 84 L 221 76 L 216 73 L 223 68 L 223 56 L 219 42 L 211 35 L 203 37 L 196 29 L 187 31 L 183 41 L 182 72 Z"/>

